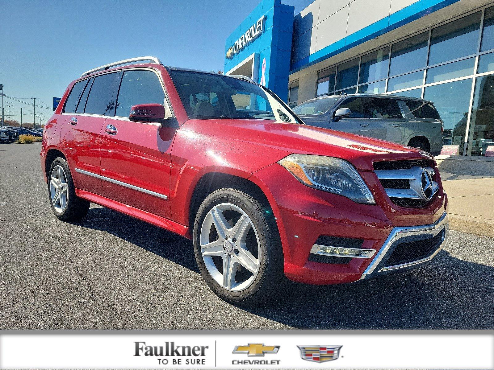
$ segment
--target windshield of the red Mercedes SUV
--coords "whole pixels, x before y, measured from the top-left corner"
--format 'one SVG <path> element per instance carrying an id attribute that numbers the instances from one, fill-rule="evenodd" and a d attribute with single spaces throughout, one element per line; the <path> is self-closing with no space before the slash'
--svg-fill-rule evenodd
<path id="1" fill-rule="evenodd" d="M 221 74 L 170 71 L 191 119 L 244 118 L 297 122 L 268 90 Z"/>

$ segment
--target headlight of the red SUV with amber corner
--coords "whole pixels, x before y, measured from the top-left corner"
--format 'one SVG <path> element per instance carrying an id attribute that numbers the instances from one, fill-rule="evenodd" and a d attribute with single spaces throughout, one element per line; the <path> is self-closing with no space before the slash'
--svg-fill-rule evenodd
<path id="1" fill-rule="evenodd" d="M 343 159 L 291 154 L 278 163 L 304 185 L 346 196 L 357 203 L 375 204 L 371 190 L 357 170 Z"/>

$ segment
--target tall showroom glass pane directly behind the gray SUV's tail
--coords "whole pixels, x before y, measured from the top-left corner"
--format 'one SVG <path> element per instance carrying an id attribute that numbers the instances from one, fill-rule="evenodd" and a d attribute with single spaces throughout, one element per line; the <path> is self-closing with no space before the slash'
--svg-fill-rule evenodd
<path id="1" fill-rule="evenodd" d="M 444 145 L 458 145 L 460 153 L 465 142 L 471 91 L 471 78 L 427 86 L 424 91 L 424 99 L 434 103 L 444 121 Z"/>

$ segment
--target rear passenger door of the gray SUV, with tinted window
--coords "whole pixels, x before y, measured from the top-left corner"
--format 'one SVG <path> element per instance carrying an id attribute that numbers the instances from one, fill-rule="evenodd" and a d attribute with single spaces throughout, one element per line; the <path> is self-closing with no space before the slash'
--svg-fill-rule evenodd
<path id="1" fill-rule="evenodd" d="M 371 136 L 402 144 L 405 123 L 398 102 L 391 98 L 364 98 L 365 116 L 371 127 Z"/>

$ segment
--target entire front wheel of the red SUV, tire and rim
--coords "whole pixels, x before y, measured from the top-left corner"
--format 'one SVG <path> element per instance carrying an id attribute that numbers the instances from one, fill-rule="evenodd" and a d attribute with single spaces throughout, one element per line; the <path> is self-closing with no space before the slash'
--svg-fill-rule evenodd
<path id="1" fill-rule="evenodd" d="M 275 296 L 286 280 L 271 212 L 246 192 L 219 189 L 206 197 L 194 224 L 194 252 L 212 291 L 236 304 Z"/>

